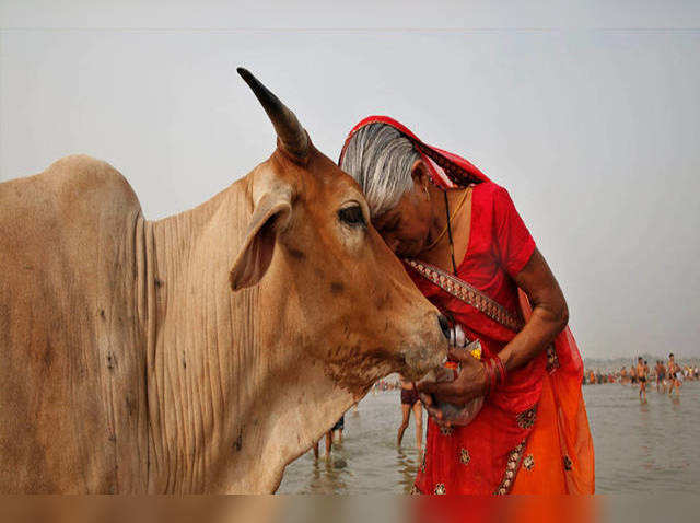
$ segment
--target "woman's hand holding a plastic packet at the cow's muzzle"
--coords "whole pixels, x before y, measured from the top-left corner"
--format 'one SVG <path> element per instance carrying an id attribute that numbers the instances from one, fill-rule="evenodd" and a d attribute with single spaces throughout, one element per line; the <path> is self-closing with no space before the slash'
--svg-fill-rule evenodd
<path id="1" fill-rule="evenodd" d="M 450 358 L 460 363 L 457 377 L 452 382 L 419 383 L 418 392 L 433 395 L 439 402 L 459 406 L 483 396 L 487 386 L 483 363 L 465 350 L 450 349 Z M 435 411 L 439 409 L 435 405 L 425 405 L 425 408 L 438 420 L 441 419 L 436 416 Z"/>

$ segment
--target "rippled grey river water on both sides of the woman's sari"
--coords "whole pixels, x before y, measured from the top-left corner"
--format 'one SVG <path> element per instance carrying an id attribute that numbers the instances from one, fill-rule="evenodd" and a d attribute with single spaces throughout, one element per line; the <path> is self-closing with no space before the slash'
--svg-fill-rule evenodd
<path id="1" fill-rule="evenodd" d="M 584 387 L 598 493 L 700 493 L 700 382 L 687 382 L 680 394 L 670 399 L 652 385 L 641 404 L 630 385 Z M 346 414 L 343 442 L 334 445 L 330 460 L 323 457 L 322 441 L 322 457 L 310 451 L 287 467 L 279 492 L 408 492 L 418 452 L 412 417 L 396 448 L 400 420 L 397 391 L 368 395 L 357 412 Z"/>

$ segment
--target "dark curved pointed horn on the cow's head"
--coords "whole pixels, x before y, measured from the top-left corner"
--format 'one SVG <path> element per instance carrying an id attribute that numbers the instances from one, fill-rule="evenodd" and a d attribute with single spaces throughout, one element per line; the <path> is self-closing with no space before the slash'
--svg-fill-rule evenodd
<path id="1" fill-rule="evenodd" d="M 282 149 L 295 158 L 306 158 L 308 154 L 308 136 L 296 119 L 296 116 L 294 116 L 294 113 L 280 102 L 280 98 L 275 96 L 270 90 L 262 85 L 250 71 L 242 67 L 237 68 L 236 71 L 241 74 L 241 78 L 245 80 L 245 83 L 248 84 L 260 102 L 260 105 L 262 105 L 270 121 L 272 121 Z"/>

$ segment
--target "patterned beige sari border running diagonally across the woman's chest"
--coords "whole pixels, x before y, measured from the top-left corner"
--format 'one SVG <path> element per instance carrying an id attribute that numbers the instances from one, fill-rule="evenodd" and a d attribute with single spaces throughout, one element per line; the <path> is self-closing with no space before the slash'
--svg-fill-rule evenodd
<path id="1" fill-rule="evenodd" d="M 417 259 L 405 259 L 405 262 L 423 278 L 430 280 L 448 294 L 471 305 L 503 327 L 514 333 L 523 328 L 524 323 L 521 318 L 476 287 L 425 262 L 419 262 Z"/>

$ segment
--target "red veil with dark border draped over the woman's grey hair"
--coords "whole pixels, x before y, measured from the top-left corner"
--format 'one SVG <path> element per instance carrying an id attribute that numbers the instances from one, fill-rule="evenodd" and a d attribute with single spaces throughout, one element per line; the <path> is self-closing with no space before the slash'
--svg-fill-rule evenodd
<path id="1" fill-rule="evenodd" d="M 489 182 L 489 178 L 479 171 L 474 164 L 465 160 L 462 156 L 452 154 L 451 152 L 443 151 L 436 147 L 431 147 L 424 143 L 420 138 L 413 135 L 406 126 L 396 121 L 388 116 L 368 116 L 362 119 L 357 126 L 352 128 L 348 138 L 346 139 L 342 150 L 340 151 L 340 158 L 338 159 L 338 165 L 342 162 L 342 156 L 346 152 L 346 148 L 350 142 L 350 139 L 365 126 L 372 124 L 386 124 L 399 131 L 406 138 L 408 138 L 416 150 L 421 155 L 423 163 L 428 166 L 428 173 L 430 179 L 439 187 L 450 189 L 454 187 L 466 187 L 469 184 L 479 184 L 481 182 Z"/>

